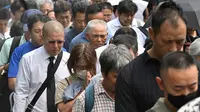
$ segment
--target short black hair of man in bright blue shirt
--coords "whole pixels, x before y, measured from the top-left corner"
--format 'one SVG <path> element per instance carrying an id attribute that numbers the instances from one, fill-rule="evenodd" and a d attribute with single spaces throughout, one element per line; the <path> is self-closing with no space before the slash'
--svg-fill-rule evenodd
<path id="1" fill-rule="evenodd" d="M 31 31 L 31 29 L 33 28 L 33 25 L 38 21 L 46 23 L 48 21 L 51 21 L 51 19 L 49 17 L 47 17 L 46 15 L 41 15 L 41 14 L 36 14 L 36 15 L 30 16 L 28 18 L 28 29 L 29 29 L 29 31 Z"/>

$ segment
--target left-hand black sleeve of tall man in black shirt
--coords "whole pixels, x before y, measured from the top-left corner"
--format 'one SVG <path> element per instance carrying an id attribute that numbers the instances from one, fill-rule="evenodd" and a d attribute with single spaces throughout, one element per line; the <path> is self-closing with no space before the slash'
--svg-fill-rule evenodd
<path id="1" fill-rule="evenodd" d="M 118 75 L 115 93 L 115 111 L 116 112 L 138 112 L 136 101 L 132 93 L 130 64 L 126 66 Z"/>

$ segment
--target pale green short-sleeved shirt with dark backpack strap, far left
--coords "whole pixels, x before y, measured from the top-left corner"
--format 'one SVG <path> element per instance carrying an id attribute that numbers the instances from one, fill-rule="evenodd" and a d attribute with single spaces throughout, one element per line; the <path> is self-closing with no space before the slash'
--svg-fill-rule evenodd
<path id="1" fill-rule="evenodd" d="M 1 48 L 1 52 L 0 52 L 0 57 L 1 57 L 0 58 L 0 66 L 3 66 L 8 63 L 8 61 L 9 61 L 8 58 L 9 58 L 12 42 L 13 42 L 13 38 L 9 38 L 3 44 L 2 48 Z M 21 40 L 19 42 L 19 45 L 22 45 L 25 42 L 26 42 L 25 37 L 22 36 Z"/>

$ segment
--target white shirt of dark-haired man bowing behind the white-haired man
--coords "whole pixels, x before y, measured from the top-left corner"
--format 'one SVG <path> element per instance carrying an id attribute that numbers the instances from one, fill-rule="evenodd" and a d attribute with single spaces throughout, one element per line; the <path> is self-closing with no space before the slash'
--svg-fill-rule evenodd
<path id="1" fill-rule="evenodd" d="M 143 26 L 144 22 L 142 20 L 133 18 L 132 24 L 129 26 L 130 28 Z M 107 23 L 108 31 L 112 36 L 114 36 L 115 32 L 122 27 L 119 18 L 113 19 Z"/>

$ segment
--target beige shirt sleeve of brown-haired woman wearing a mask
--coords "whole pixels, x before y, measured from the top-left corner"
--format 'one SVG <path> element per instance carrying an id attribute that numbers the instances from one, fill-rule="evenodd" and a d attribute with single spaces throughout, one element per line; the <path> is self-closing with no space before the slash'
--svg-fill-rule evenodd
<path id="1" fill-rule="evenodd" d="M 55 93 L 55 104 L 58 104 L 63 101 L 63 93 L 65 88 L 67 88 L 67 86 L 68 82 L 66 79 L 63 79 L 58 83 Z"/>

